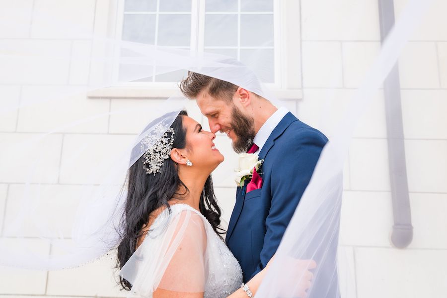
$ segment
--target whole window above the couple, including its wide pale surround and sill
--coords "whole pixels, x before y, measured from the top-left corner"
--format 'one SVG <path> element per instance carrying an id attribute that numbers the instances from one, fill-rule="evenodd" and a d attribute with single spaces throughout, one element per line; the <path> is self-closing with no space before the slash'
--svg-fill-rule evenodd
<path id="1" fill-rule="evenodd" d="M 127 40 L 232 56 L 266 78 L 278 98 L 299 99 L 299 11 L 297 0 L 96 0 L 94 30 L 98 35 L 114 32 Z M 172 24 L 165 22 L 169 14 L 176 18 Z M 224 32 L 213 33 L 219 22 L 225 22 Z M 174 34 L 166 34 L 169 28 L 175 28 Z M 114 72 L 119 75 L 119 70 Z M 88 97 L 169 97 L 185 74 L 123 82 L 91 91 Z"/>

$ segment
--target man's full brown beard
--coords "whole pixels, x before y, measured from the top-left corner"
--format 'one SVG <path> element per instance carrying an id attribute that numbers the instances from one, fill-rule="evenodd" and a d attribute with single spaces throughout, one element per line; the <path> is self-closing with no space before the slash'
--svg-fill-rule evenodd
<path id="1" fill-rule="evenodd" d="M 245 153 L 256 135 L 253 128 L 254 119 L 242 114 L 234 105 L 231 113 L 231 130 L 236 135 L 236 140 L 232 144 L 233 150 L 236 153 Z"/>

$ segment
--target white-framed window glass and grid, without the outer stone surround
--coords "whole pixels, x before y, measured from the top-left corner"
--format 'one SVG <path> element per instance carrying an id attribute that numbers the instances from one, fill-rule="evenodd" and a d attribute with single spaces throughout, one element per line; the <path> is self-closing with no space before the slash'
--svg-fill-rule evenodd
<path id="1" fill-rule="evenodd" d="M 118 15 L 124 40 L 231 56 L 265 83 L 279 81 L 274 0 L 124 0 Z M 176 71 L 128 86 L 165 86 L 185 75 Z"/>

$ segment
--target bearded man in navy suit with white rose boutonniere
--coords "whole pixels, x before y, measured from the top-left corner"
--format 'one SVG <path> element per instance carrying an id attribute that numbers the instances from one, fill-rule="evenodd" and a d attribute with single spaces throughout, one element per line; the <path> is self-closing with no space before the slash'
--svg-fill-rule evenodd
<path id="1" fill-rule="evenodd" d="M 237 187 L 226 234 L 246 283 L 275 254 L 327 138 L 286 108 L 225 81 L 188 72 L 180 89 L 197 100 L 212 132 L 227 134 L 234 151 L 264 160 L 253 174 L 256 183 L 249 178 Z"/>

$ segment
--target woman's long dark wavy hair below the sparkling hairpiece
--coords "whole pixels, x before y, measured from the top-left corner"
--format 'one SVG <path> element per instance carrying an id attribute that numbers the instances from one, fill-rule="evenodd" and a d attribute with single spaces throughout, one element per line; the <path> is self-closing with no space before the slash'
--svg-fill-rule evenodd
<path id="1" fill-rule="evenodd" d="M 183 116 L 186 111 L 181 111 L 175 118 L 171 127 L 175 130 L 172 148 L 183 149 L 186 147 L 186 129 L 183 127 Z M 155 120 L 157 121 L 157 120 Z M 149 124 L 150 125 L 150 124 Z M 140 157 L 130 168 L 127 174 L 128 191 L 124 212 L 121 218 L 120 236 L 118 245 L 117 268 L 123 268 L 135 252 L 138 239 L 143 235 L 142 227 L 148 224 L 149 216 L 161 206 L 170 207 L 168 201 L 171 199 L 182 199 L 189 193 L 188 188 L 178 176 L 178 165 L 168 158 L 164 161 L 159 173 L 147 174 L 143 168 L 144 157 Z M 180 189 L 185 192 L 179 193 Z M 199 203 L 200 212 L 208 219 L 214 231 L 223 234 L 221 224 L 221 209 L 214 195 L 213 180 L 211 176 L 205 182 Z M 149 240 L 150 241 L 150 240 Z M 122 277 L 119 283 L 123 289 L 130 291 L 132 285 Z"/>

